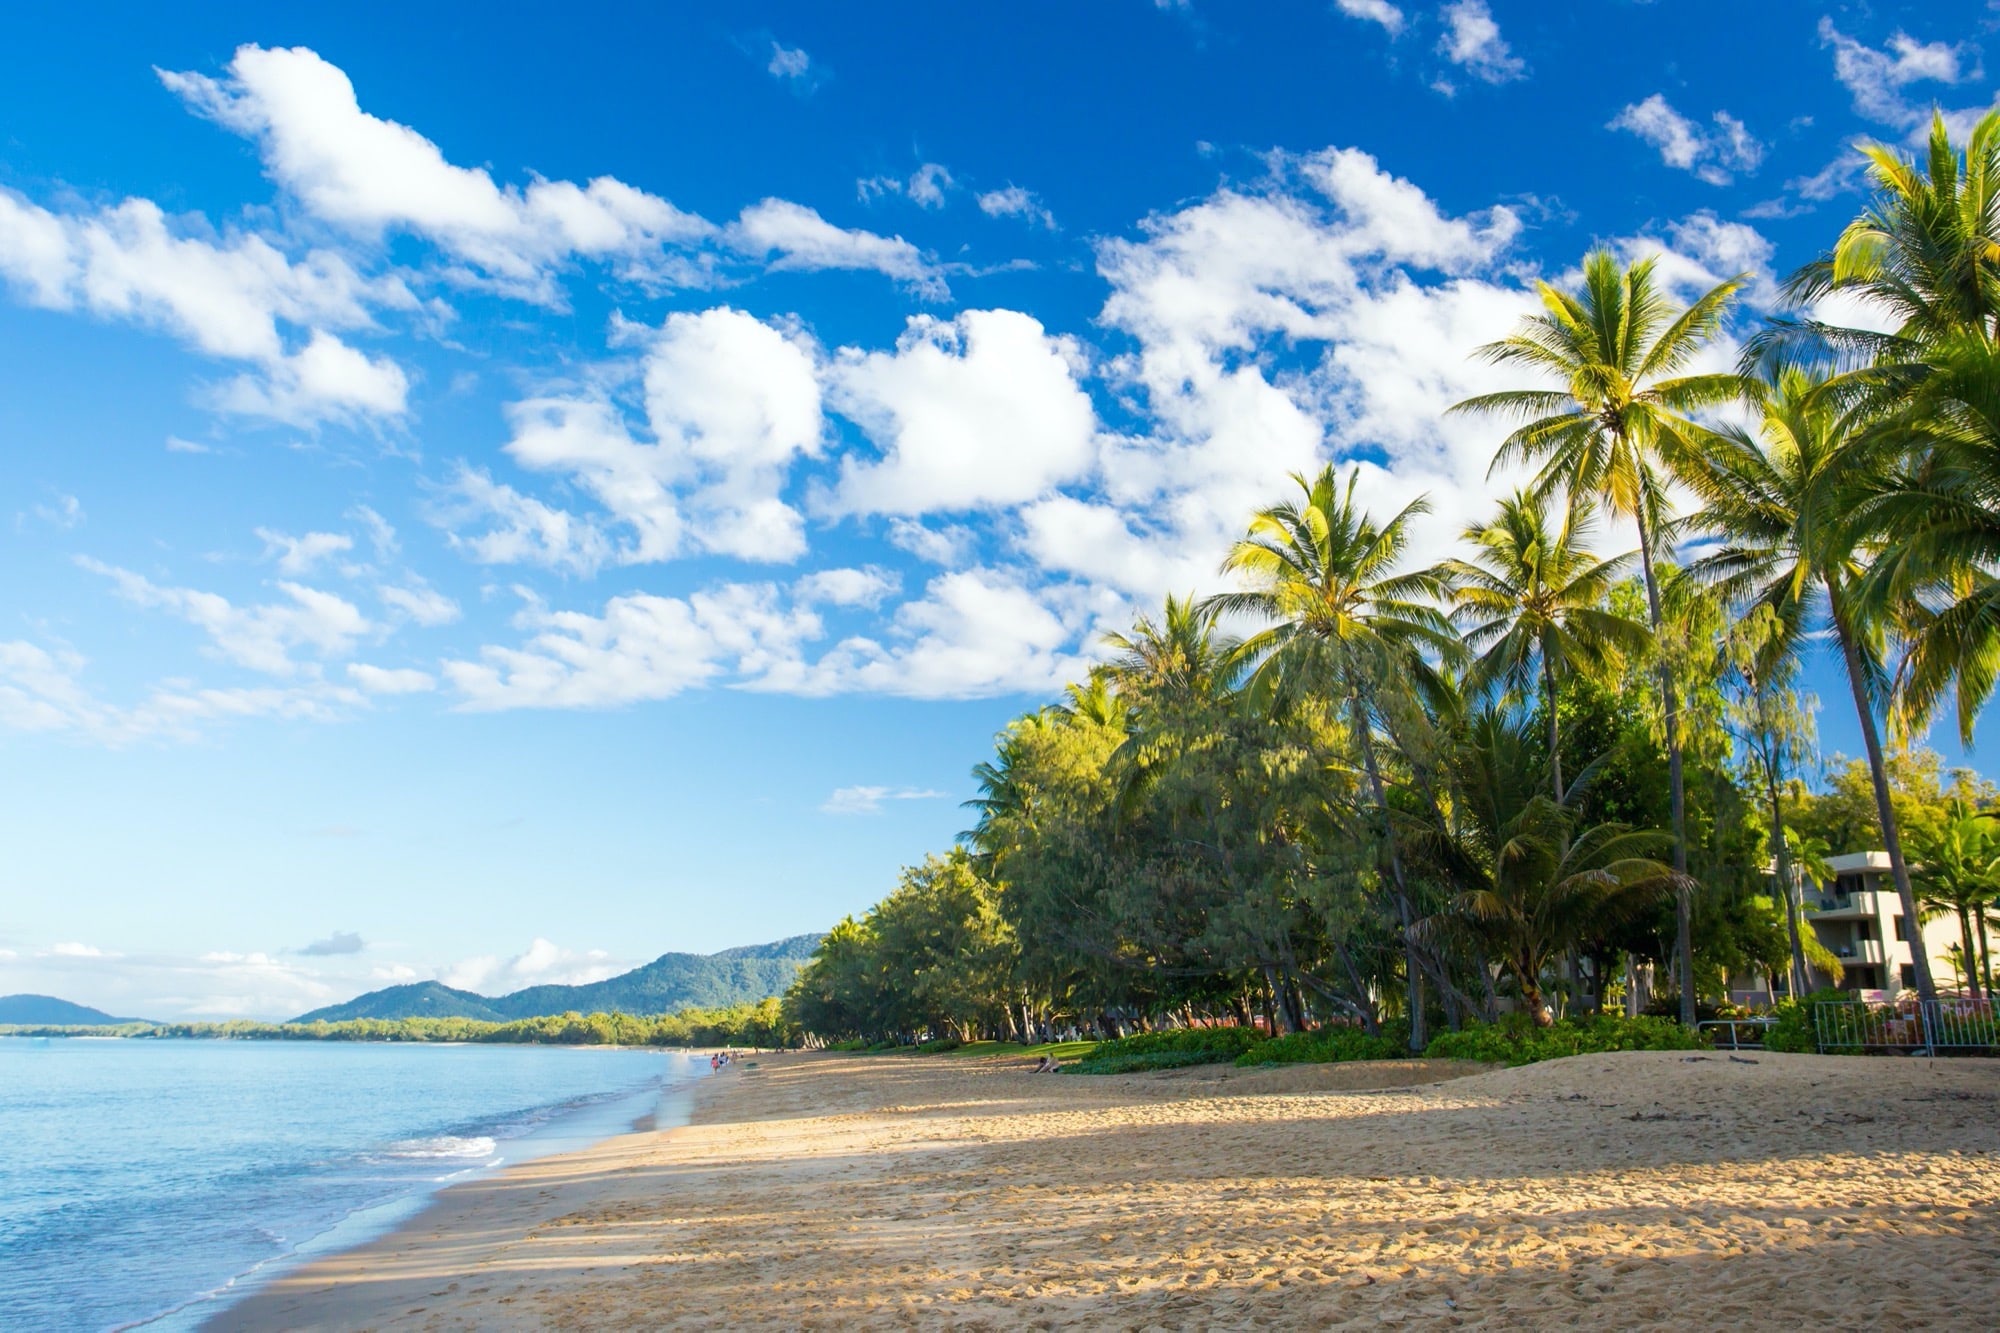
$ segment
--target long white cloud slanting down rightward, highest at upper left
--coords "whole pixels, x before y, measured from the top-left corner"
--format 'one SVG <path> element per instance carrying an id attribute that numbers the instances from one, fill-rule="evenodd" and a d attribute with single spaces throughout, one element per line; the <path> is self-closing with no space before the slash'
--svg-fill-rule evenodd
<path id="1" fill-rule="evenodd" d="M 314 216 L 360 234 L 422 234 L 522 296 L 552 300 L 546 270 L 572 256 L 660 276 L 662 246 L 712 232 L 610 176 L 518 188 L 454 166 L 410 126 L 364 112 L 346 72 L 304 46 L 240 46 L 220 80 L 168 70 L 160 80 L 192 110 L 256 138 L 264 168 Z"/>

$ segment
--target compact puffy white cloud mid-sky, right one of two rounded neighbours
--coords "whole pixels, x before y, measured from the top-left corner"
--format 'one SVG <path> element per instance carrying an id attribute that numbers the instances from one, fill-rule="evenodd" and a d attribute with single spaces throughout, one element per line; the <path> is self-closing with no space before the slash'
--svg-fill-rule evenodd
<path id="1" fill-rule="evenodd" d="M 1092 464 L 1082 350 L 1018 310 L 910 320 L 894 352 L 846 348 L 832 400 L 882 450 L 842 462 L 830 512 L 924 514 L 1030 500 Z"/>

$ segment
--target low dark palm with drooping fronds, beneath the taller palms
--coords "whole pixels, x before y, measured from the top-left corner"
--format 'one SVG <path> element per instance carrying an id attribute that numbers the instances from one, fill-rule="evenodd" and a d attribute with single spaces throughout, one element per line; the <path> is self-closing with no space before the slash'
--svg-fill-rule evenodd
<path id="1" fill-rule="evenodd" d="M 1542 975 L 1592 933 L 1644 915 L 1674 885 L 1654 859 L 1666 835 L 1578 813 L 1594 765 L 1568 793 L 1540 791 L 1534 723 L 1486 711 L 1452 763 L 1452 819 L 1444 831 L 1456 879 L 1468 883 L 1428 931 L 1456 925 L 1502 961 L 1538 1025 L 1552 1015 Z"/>

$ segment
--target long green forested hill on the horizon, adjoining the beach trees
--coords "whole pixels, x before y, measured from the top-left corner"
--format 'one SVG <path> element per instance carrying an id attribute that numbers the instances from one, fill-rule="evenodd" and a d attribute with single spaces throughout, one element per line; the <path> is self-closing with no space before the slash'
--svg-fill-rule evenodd
<path id="1" fill-rule="evenodd" d="M 662 953 L 646 967 L 582 987 L 528 987 L 512 995 L 474 995 L 436 981 L 370 991 L 346 1005 L 302 1013 L 294 1023 L 346 1019 L 536 1019 L 546 1013 L 656 1015 L 680 1009 L 722 1009 L 784 995 L 792 977 L 820 947 L 818 935 L 794 935 L 770 945 L 722 953 Z"/>

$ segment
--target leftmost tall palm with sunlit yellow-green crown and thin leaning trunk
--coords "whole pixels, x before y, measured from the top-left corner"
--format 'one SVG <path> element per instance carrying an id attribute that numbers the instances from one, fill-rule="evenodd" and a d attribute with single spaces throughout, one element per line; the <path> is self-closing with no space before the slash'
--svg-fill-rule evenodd
<path id="1" fill-rule="evenodd" d="M 1238 658 L 1254 664 L 1252 699 L 1332 689 L 1346 705 L 1402 919 L 1410 1047 L 1420 1051 L 1424 957 L 1412 933 L 1410 887 L 1376 757 L 1376 709 L 1386 689 L 1430 677 L 1424 654 L 1454 654 L 1458 638 L 1434 606 L 1444 590 L 1436 572 L 1396 568 L 1410 546 L 1410 524 L 1428 504 L 1412 500 L 1388 522 L 1376 522 L 1354 502 L 1358 478 L 1354 470 L 1342 486 L 1332 466 L 1310 480 L 1294 474 L 1300 498 L 1258 510 L 1222 562 L 1224 572 L 1248 586 L 1206 598 L 1202 610 L 1264 622 L 1238 648 Z"/>

